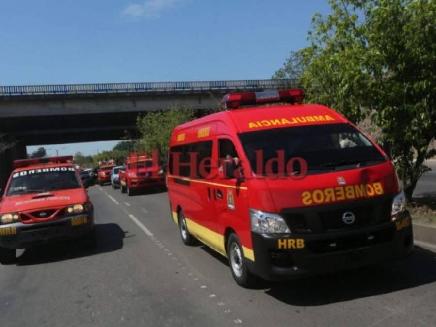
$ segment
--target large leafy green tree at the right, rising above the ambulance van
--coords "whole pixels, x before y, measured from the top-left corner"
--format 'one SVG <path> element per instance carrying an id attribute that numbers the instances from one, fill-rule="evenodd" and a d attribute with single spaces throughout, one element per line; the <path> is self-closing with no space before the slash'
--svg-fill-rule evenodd
<path id="1" fill-rule="evenodd" d="M 397 172 L 411 200 L 435 154 L 436 1 L 330 0 L 315 14 L 310 46 L 275 73 L 301 69 L 309 102 L 330 106 L 357 123 L 371 114 L 392 142 Z M 296 59 L 296 60 L 293 60 Z M 289 66 L 289 67 L 288 67 Z"/>

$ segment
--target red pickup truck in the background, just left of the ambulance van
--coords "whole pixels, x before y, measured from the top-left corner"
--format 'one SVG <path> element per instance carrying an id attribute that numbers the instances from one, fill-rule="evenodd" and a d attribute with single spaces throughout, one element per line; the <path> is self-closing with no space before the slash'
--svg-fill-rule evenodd
<path id="1" fill-rule="evenodd" d="M 121 193 L 131 196 L 148 187 L 165 187 L 162 166 L 146 154 L 131 153 L 124 160 L 124 169 L 118 171 Z"/>

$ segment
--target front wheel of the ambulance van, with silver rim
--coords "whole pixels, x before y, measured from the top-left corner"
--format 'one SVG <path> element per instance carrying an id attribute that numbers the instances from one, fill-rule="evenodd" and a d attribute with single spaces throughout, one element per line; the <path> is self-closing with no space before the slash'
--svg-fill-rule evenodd
<path id="1" fill-rule="evenodd" d="M 228 238 L 227 254 L 230 270 L 236 283 L 242 287 L 252 286 L 256 281 L 256 276 L 248 270 L 241 243 L 234 233 Z"/>

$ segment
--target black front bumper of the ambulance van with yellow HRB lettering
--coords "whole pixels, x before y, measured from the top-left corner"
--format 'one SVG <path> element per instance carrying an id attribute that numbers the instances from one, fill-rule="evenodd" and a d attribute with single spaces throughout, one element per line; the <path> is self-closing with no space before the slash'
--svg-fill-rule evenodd
<path id="1" fill-rule="evenodd" d="M 355 269 L 404 257 L 413 249 L 412 220 L 324 234 L 264 235 L 252 232 L 255 261 L 249 270 L 266 280 L 292 280 Z"/>

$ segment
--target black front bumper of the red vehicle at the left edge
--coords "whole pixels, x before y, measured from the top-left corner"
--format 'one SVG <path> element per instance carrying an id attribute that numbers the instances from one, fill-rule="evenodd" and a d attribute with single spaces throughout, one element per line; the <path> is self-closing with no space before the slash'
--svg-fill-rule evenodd
<path id="1" fill-rule="evenodd" d="M 0 247 L 28 248 L 34 245 L 76 239 L 94 229 L 92 213 L 68 216 L 59 220 L 0 225 Z"/>

